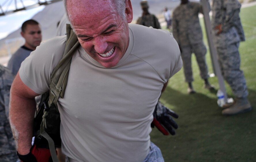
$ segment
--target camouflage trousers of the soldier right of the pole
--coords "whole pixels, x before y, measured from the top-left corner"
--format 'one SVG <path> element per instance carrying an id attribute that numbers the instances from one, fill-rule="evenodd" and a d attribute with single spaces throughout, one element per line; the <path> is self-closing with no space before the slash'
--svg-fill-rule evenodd
<path id="1" fill-rule="evenodd" d="M 221 72 L 237 98 L 247 97 L 248 91 L 243 71 L 240 70 L 239 42 L 217 47 Z"/>

